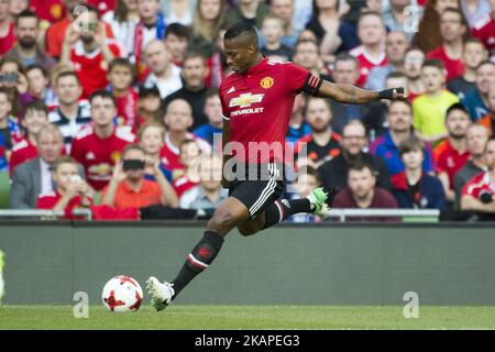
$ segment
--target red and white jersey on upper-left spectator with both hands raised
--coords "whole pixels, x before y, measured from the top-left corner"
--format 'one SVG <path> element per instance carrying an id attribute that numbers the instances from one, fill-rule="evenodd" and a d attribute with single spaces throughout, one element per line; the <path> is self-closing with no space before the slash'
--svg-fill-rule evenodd
<path id="1" fill-rule="evenodd" d="M 107 43 L 114 57 L 119 57 L 120 50 L 117 42 L 107 40 Z M 82 85 L 82 99 L 89 98 L 95 90 L 107 87 L 108 63 L 100 50 L 88 54 L 82 47 L 82 42 L 79 41 L 70 51 L 70 63 Z"/>

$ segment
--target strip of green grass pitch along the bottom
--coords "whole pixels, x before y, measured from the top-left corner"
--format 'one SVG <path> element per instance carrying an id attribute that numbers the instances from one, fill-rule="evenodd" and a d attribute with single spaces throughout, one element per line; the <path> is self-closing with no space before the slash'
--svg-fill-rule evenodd
<path id="1" fill-rule="evenodd" d="M 495 307 L 172 306 L 113 314 L 89 307 L 76 319 L 69 306 L 0 306 L 0 329 L 495 329 Z"/>

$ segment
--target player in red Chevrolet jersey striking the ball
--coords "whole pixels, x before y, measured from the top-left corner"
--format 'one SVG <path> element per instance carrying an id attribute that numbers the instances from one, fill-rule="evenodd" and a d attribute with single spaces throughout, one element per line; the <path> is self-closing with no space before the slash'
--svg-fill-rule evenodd
<path id="1" fill-rule="evenodd" d="M 177 277 L 172 283 L 161 283 L 153 276 L 147 279 L 156 310 L 166 308 L 213 262 L 224 237 L 233 229 L 252 235 L 297 212 L 326 216 L 327 194 L 322 188 L 316 188 L 304 199 L 278 199 L 285 188 L 284 139 L 296 95 L 305 91 L 348 103 L 405 98 L 400 88 L 376 92 L 334 85 L 293 63 L 271 63 L 261 54 L 256 31 L 249 24 L 232 25 L 223 41 L 227 64 L 233 70 L 220 86 L 224 118 L 222 186 L 229 188 L 229 198 L 215 211 L 204 238 Z M 256 144 L 268 145 L 273 153 L 263 153 Z M 233 145 L 235 155 L 227 155 L 226 151 Z"/>

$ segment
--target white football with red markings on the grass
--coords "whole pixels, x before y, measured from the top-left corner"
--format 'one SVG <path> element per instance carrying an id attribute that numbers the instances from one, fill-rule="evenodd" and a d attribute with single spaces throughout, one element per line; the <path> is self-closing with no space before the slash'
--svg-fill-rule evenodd
<path id="1" fill-rule="evenodd" d="M 136 311 L 143 301 L 143 289 L 131 276 L 118 275 L 105 284 L 101 299 L 110 311 Z"/>

